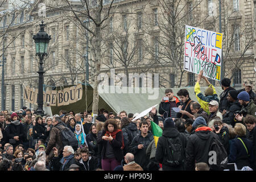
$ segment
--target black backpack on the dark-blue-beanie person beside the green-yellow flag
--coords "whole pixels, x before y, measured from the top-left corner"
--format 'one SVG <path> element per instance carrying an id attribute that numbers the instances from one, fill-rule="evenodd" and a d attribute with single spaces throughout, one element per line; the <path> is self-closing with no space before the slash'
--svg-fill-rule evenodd
<path id="1" fill-rule="evenodd" d="M 180 135 L 179 135 L 180 136 Z M 166 150 L 164 152 L 163 163 L 170 167 L 177 167 L 184 163 L 184 159 L 182 157 L 183 154 L 183 146 L 181 143 L 180 137 L 176 138 L 166 138 Z"/>

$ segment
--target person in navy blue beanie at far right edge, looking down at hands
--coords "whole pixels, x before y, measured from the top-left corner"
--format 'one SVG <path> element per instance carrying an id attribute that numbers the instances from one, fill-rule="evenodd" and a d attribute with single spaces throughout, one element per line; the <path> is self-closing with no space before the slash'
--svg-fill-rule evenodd
<path id="1" fill-rule="evenodd" d="M 237 121 L 245 122 L 245 117 L 247 114 L 253 115 L 256 118 L 256 105 L 253 100 L 250 101 L 249 93 L 246 91 L 240 92 L 237 96 L 238 102 L 242 106 L 241 112 L 236 113 L 235 119 Z"/>

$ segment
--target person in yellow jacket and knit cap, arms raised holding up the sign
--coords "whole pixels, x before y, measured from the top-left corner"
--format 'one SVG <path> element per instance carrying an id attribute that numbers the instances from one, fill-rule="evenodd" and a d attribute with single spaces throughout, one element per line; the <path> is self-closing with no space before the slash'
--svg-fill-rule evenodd
<path id="1" fill-rule="evenodd" d="M 208 85 L 208 88 L 205 89 L 205 91 L 204 91 L 205 96 L 203 95 L 203 93 L 201 93 L 201 90 L 200 90 L 199 82 L 200 82 L 201 78 L 204 78 L 204 80 L 207 82 L 207 85 Z M 201 107 L 204 109 L 204 111 L 207 112 L 208 114 L 209 114 L 208 103 L 212 100 L 217 101 L 217 102 L 219 101 L 214 86 L 212 84 L 210 84 L 207 77 L 203 76 L 203 70 L 201 70 L 199 72 L 199 75 L 197 77 L 197 81 L 196 81 L 196 85 L 195 85 L 195 94 L 196 94 L 197 101 L 199 102 Z"/>

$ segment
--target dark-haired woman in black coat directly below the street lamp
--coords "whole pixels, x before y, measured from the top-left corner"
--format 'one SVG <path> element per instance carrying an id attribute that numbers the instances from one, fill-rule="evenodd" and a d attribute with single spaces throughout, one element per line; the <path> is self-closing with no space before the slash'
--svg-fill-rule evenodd
<path id="1" fill-rule="evenodd" d="M 36 115 L 35 126 L 33 126 L 33 146 L 38 143 L 39 139 L 46 139 L 46 127 L 43 126 L 42 116 Z"/>

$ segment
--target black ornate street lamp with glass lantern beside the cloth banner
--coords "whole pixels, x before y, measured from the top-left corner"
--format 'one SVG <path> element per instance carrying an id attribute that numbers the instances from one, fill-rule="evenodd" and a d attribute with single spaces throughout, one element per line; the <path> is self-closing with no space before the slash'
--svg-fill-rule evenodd
<path id="1" fill-rule="evenodd" d="M 39 81 L 38 81 L 38 109 L 36 109 L 35 113 L 39 115 L 44 115 L 43 104 L 44 104 L 44 97 L 43 97 L 43 76 L 44 76 L 44 67 L 43 67 L 43 59 L 44 56 L 47 56 L 47 48 L 49 40 L 51 40 L 51 35 L 48 35 L 44 31 L 44 27 L 46 24 L 42 21 L 40 24 L 40 31 L 33 36 L 35 40 L 35 47 L 36 47 L 36 56 L 39 57 Z"/>

